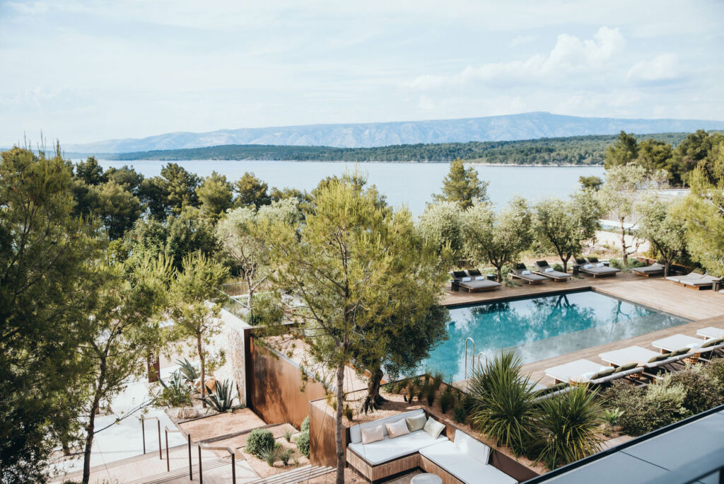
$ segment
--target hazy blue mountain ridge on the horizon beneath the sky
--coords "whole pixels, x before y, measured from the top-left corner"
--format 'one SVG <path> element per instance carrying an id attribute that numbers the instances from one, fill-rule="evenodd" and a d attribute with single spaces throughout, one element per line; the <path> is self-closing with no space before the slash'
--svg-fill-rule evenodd
<path id="1" fill-rule="evenodd" d="M 282 128 L 218 130 L 211 133 L 167 133 L 143 139 L 119 139 L 64 145 L 82 153 L 127 153 L 223 145 L 331 146 L 369 148 L 418 143 L 514 141 L 580 135 L 678 133 L 724 129 L 724 121 L 626 120 L 531 112 L 461 120 L 372 122 L 367 124 L 305 125 Z"/>

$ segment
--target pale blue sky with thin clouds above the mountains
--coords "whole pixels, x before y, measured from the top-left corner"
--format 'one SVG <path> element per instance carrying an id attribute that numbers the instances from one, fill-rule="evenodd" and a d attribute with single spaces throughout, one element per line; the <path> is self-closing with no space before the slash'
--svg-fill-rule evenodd
<path id="1" fill-rule="evenodd" d="M 724 1 L 0 0 L 0 146 L 521 112 L 724 120 Z"/>

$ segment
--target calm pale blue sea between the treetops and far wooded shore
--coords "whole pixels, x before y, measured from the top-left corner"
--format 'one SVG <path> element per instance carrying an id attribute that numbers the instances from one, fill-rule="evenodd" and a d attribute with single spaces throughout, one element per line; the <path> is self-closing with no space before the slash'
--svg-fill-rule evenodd
<path id="1" fill-rule="evenodd" d="M 122 167 L 132 164 L 146 176 L 159 175 L 167 162 L 135 161 L 119 162 L 101 160 L 104 167 Z M 190 172 L 206 176 L 212 171 L 222 173 L 228 180 L 241 178 L 244 172 L 253 172 L 269 187 L 311 190 L 319 180 L 329 175 L 342 175 L 354 170 L 353 163 L 331 162 L 269 162 L 236 160 L 191 160 L 177 162 Z M 447 163 L 361 163 L 358 170 L 367 174 L 369 183 L 377 185 L 392 206 L 403 204 L 413 214 L 421 214 L 433 193 L 439 193 L 442 178 L 447 174 Z M 603 167 L 518 167 L 476 165 L 479 178 L 490 182 L 488 194 L 497 205 L 504 204 L 518 194 L 527 199 L 545 195 L 566 196 L 576 191 L 578 177 L 602 176 Z"/>

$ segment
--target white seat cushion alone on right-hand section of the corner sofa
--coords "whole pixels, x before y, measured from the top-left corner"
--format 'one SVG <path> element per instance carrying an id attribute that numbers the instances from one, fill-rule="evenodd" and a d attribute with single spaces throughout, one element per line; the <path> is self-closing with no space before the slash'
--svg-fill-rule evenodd
<path id="1" fill-rule="evenodd" d="M 492 465 L 483 464 L 450 441 L 421 448 L 420 454 L 463 483 L 518 484 L 513 477 Z"/>

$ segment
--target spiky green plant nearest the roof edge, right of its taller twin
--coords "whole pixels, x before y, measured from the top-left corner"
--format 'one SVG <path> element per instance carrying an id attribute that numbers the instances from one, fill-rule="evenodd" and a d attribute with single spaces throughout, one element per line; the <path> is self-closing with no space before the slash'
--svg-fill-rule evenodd
<path id="1" fill-rule="evenodd" d="M 596 392 L 585 385 L 542 401 L 537 425 L 541 446 L 538 460 L 555 469 L 595 454 L 603 440 L 601 417 Z"/>

